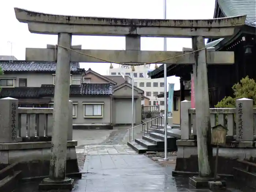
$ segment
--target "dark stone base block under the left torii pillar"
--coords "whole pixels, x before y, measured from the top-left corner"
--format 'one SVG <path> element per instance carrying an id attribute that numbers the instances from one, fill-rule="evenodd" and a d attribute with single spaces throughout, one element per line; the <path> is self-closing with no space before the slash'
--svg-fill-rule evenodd
<path id="1" fill-rule="evenodd" d="M 72 190 L 74 186 L 74 179 L 65 178 L 64 180 L 51 180 L 50 178 L 45 178 L 39 185 L 39 191 L 49 191 L 49 190 Z"/>

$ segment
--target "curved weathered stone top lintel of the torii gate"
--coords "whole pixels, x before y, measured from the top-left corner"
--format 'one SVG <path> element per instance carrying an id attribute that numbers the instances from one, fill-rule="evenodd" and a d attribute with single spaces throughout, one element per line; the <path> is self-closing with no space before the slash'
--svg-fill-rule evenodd
<path id="1" fill-rule="evenodd" d="M 234 28 L 245 24 L 246 15 L 197 20 L 125 19 L 54 15 L 14 8 L 19 22 L 28 23 L 31 33 L 142 37 L 206 38 L 233 35 Z"/>

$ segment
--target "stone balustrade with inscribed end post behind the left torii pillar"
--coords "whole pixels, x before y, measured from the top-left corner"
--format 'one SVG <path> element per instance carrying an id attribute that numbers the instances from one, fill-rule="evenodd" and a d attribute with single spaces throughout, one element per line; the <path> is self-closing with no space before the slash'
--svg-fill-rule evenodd
<path id="1" fill-rule="evenodd" d="M 0 99 L 0 143 L 50 141 L 53 108 L 18 108 L 18 99 Z M 68 139 L 72 140 L 72 101 Z"/>

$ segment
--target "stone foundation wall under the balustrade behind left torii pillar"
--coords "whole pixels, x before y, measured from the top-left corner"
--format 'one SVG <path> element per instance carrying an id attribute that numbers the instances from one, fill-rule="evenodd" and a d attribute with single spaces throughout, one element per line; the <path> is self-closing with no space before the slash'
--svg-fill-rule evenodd
<path id="1" fill-rule="evenodd" d="M 51 142 L 0 143 L 0 165 L 17 163 L 22 170 L 21 178 L 49 175 Z M 75 146 L 77 141 L 67 143 L 66 173 L 78 173 Z"/>

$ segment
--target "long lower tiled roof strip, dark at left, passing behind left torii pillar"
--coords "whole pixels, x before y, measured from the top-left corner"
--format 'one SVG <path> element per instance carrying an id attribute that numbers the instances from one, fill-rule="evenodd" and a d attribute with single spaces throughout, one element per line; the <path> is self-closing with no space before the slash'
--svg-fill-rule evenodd
<path id="1" fill-rule="evenodd" d="M 112 84 L 87 84 L 72 85 L 70 95 L 112 95 Z M 2 88 L 0 97 L 13 98 L 39 98 L 46 95 L 54 95 L 54 85 L 42 85 L 41 87 L 8 87 Z"/>

